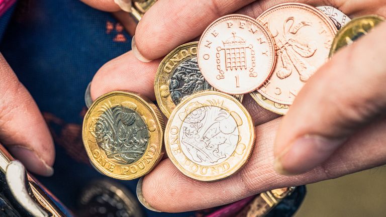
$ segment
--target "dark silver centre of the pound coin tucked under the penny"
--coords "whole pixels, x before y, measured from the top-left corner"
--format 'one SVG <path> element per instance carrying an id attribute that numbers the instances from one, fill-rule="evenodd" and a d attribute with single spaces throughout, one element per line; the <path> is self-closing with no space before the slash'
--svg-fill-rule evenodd
<path id="1" fill-rule="evenodd" d="M 202 75 L 197 57 L 180 63 L 170 78 L 169 91 L 171 100 L 179 104 L 186 96 L 213 89 Z"/>

